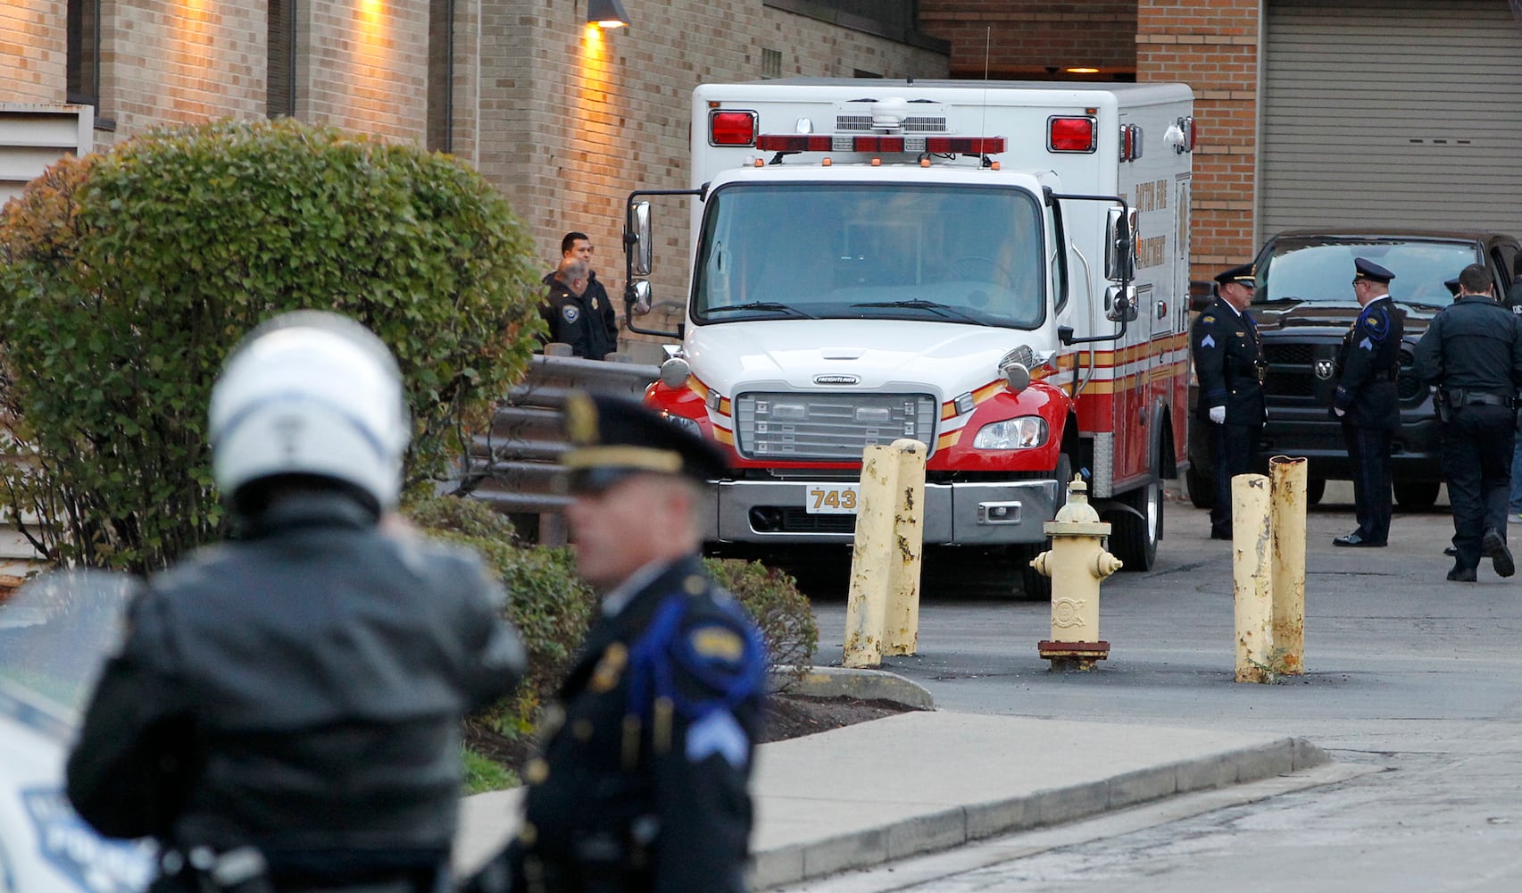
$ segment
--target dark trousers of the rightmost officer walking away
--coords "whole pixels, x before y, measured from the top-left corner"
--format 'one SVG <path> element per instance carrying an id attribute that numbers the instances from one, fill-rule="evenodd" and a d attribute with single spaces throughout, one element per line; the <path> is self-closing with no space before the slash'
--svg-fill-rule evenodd
<path id="1" fill-rule="evenodd" d="M 1443 426 L 1443 473 L 1454 505 L 1457 567 L 1479 564 L 1485 529 L 1507 535 L 1514 437 L 1516 411 L 1505 406 L 1458 406 Z"/>

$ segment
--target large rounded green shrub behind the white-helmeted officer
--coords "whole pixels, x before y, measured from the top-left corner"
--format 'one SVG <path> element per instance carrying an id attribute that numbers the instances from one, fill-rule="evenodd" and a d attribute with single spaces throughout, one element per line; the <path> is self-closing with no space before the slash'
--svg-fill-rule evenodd
<path id="1" fill-rule="evenodd" d="M 292 120 L 157 131 L 0 211 L 0 502 L 53 561 L 152 570 L 221 535 L 205 408 L 257 323 L 327 309 L 406 382 L 408 484 L 440 475 L 527 368 L 540 288 L 478 173 Z"/>

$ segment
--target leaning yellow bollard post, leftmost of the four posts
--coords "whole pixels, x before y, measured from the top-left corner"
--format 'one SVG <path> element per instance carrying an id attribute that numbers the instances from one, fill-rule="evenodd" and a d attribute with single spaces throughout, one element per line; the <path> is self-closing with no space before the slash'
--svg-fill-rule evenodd
<path id="1" fill-rule="evenodd" d="M 886 444 L 866 447 L 861 453 L 861 484 L 857 488 L 857 528 L 851 549 L 851 589 L 846 593 L 843 666 L 883 663 L 896 490 L 898 458 L 893 447 Z"/>

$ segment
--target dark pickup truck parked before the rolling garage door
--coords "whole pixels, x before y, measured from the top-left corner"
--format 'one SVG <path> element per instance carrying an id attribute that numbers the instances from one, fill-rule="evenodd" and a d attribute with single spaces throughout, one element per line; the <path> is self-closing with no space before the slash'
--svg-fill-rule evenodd
<path id="1" fill-rule="evenodd" d="M 1400 350 L 1400 431 L 1391 449 L 1396 502 L 1425 508 L 1443 482 L 1438 423 L 1431 388 L 1412 371 L 1412 348 L 1432 316 L 1452 303 L 1443 284 L 1470 263 L 1485 263 L 1498 294 L 1511 286 L 1522 253 L 1517 240 L 1499 233 L 1440 230 L 1326 231 L 1289 230 L 1257 254 L 1257 291 L 1251 312 L 1263 333 L 1268 377 L 1263 383 L 1268 423 L 1259 470 L 1275 455 L 1306 456 L 1307 501 L 1317 502 L 1327 481 L 1350 476 L 1342 426 L 1330 412 L 1336 388 L 1335 362 L 1342 333 L 1358 318 L 1353 259 L 1367 257 L 1396 274 L 1390 295 L 1405 310 Z M 1196 298 L 1196 306 L 1210 298 Z M 1190 391 L 1193 402 L 1193 391 Z M 1193 408 L 1190 408 L 1193 409 Z M 1205 423 L 1190 415 L 1187 485 L 1196 507 L 1215 499 L 1215 459 Z"/>

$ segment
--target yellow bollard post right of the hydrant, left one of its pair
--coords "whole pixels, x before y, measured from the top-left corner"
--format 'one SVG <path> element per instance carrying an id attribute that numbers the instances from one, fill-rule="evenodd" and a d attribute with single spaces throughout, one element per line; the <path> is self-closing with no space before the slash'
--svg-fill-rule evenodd
<path id="1" fill-rule="evenodd" d="M 1274 682 L 1274 561 L 1269 484 L 1231 478 L 1231 552 L 1236 589 L 1236 680 Z"/>

